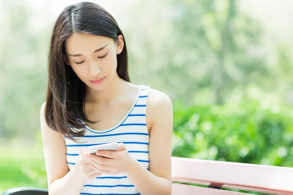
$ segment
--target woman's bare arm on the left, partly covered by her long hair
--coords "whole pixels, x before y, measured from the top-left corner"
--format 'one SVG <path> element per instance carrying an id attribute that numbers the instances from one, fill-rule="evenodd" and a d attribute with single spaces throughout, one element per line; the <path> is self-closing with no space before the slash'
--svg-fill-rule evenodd
<path id="1" fill-rule="evenodd" d="M 40 116 L 49 195 L 80 195 L 86 179 L 78 162 L 69 171 L 64 138 L 46 124 L 44 104 Z"/>

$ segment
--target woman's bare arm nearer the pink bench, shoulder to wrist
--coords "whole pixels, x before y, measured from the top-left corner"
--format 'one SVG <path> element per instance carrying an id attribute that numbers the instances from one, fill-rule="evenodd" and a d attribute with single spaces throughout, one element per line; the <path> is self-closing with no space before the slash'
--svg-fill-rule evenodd
<path id="1" fill-rule="evenodd" d="M 132 161 L 126 176 L 142 195 L 171 195 L 173 109 L 170 98 L 150 89 L 146 117 L 151 117 L 149 171 Z"/>

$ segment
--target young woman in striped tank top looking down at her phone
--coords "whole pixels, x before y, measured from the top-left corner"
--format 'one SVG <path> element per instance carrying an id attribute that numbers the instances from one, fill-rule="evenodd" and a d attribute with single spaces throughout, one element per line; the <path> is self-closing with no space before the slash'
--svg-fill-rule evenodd
<path id="1" fill-rule="evenodd" d="M 170 195 L 173 111 L 166 94 L 130 83 L 125 38 L 101 6 L 57 18 L 41 108 L 50 195 Z M 117 151 L 88 154 L 96 144 Z"/>

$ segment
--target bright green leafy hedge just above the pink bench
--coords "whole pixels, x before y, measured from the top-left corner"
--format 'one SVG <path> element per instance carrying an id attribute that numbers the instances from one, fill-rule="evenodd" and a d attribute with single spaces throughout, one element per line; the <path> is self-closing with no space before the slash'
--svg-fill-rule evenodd
<path id="1" fill-rule="evenodd" d="M 173 156 L 293 166 L 292 109 L 174 103 Z"/>

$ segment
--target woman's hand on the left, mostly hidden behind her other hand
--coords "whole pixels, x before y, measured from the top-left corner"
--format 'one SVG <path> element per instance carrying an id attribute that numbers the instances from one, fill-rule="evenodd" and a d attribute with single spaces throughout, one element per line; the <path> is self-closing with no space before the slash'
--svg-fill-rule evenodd
<path id="1" fill-rule="evenodd" d="M 87 148 L 81 148 L 81 151 L 78 156 L 78 164 L 79 164 L 79 169 L 81 170 L 82 174 L 86 179 L 95 179 L 96 177 L 100 176 L 101 174 L 93 170 L 89 166 L 89 159 L 84 157 L 84 154 L 87 153 Z"/>

